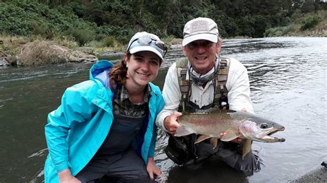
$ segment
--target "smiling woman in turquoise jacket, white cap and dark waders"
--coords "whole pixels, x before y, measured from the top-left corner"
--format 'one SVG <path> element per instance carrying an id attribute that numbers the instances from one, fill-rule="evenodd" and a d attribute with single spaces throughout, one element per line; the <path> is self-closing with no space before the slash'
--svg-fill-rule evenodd
<path id="1" fill-rule="evenodd" d="M 138 32 L 121 63 L 99 61 L 90 80 L 66 89 L 48 115 L 46 182 L 150 182 L 155 166 L 155 117 L 164 107 L 158 74 L 167 47 L 155 34 Z"/>

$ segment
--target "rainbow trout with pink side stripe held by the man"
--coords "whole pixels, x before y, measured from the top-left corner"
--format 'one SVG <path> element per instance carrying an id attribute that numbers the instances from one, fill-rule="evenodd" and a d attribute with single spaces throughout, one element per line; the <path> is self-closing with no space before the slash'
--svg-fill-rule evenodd
<path id="1" fill-rule="evenodd" d="M 285 138 L 272 137 L 277 131 L 284 131 L 285 127 L 276 122 L 260 118 L 244 111 L 213 110 L 209 113 L 183 113 L 179 117 L 180 127 L 175 136 L 187 136 L 191 133 L 201 134 L 195 143 L 207 138 L 213 147 L 217 147 L 217 139 L 230 141 L 235 138 L 246 139 L 243 157 L 251 149 L 251 140 L 259 142 L 284 142 Z M 221 133 L 226 133 L 220 136 Z"/>

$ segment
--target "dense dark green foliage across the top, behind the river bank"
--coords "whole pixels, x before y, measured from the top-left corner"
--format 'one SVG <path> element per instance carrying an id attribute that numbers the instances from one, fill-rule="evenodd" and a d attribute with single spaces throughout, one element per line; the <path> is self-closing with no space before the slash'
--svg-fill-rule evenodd
<path id="1" fill-rule="evenodd" d="M 0 33 L 44 39 L 65 35 L 79 45 L 116 45 L 127 44 L 140 31 L 182 38 L 187 21 L 210 17 L 221 36 L 262 37 L 288 34 L 303 13 L 317 14 L 326 7 L 301 0 L 8 0 L 0 1 Z M 308 30 L 321 20 L 315 15 L 297 24 Z"/>

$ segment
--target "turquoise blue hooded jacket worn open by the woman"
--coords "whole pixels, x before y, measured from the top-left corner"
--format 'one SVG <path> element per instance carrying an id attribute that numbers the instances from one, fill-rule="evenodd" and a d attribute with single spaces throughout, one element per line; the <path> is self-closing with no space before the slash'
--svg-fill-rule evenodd
<path id="1" fill-rule="evenodd" d="M 45 182 L 59 182 L 58 172 L 70 169 L 77 175 L 91 160 L 105 140 L 112 125 L 114 93 L 95 76 L 108 72 L 109 61 L 99 61 L 90 69 L 90 80 L 66 89 L 58 109 L 48 115 L 45 127 L 49 155 L 44 167 Z M 108 79 L 108 78 L 107 78 Z M 108 81 L 108 80 L 106 80 Z M 155 155 L 157 127 L 155 117 L 164 108 L 159 87 L 150 83 L 149 115 L 143 134 L 135 138 L 132 147 L 144 162 Z M 141 130 L 142 131 L 142 130 Z"/>

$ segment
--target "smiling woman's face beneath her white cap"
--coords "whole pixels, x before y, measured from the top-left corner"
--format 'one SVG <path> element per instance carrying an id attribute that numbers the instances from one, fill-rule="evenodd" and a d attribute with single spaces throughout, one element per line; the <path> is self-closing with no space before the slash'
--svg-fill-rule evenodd
<path id="1" fill-rule="evenodd" d="M 126 85 L 145 87 L 157 77 L 160 58 L 153 52 L 137 52 L 128 59 L 126 57 Z"/>

